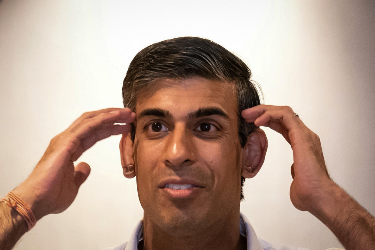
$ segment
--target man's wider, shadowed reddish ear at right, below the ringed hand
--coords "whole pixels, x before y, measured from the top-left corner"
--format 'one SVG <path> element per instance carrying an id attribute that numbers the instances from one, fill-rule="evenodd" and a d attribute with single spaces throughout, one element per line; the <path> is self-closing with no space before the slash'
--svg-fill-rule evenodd
<path id="1" fill-rule="evenodd" d="M 248 136 L 243 147 L 243 165 L 241 175 L 244 178 L 253 178 L 263 165 L 268 148 L 266 133 L 257 129 Z"/>

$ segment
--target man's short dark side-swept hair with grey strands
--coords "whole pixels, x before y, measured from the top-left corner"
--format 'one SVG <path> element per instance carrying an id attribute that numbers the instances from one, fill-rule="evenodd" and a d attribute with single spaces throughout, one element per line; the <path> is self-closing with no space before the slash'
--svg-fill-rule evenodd
<path id="1" fill-rule="evenodd" d="M 123 87 L 125 108 L 133 111 L 140 91 L 161 78 L 187 79 L 201 76 L 229 82 L 237 93 L 239 139 L 242 147 L 247 137 L 257 127 L 246 123 L 241 111 L 260 104 L 257 91 L 259 86 L 251 80 L 251 71 L 236 55 L 217 43 L 199 37 L 178 37 L 154 43 L 135 55 L 127 70 Z M 132 126 L 131 137 L 134 140 L 135 127 Z M 241 200 L 243 200 L 243 183 L 241 178 Z"/>

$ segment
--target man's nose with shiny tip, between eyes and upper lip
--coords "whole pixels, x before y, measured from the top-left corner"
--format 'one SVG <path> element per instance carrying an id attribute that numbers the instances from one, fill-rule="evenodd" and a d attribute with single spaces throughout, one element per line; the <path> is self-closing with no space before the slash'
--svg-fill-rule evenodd
<path id="1" fill-rule="evenodd" d="M 175 124 L 174 129 L 166 139 L 162 156 L 166 166 L 175 168 L 189 166 L 195 162 L 192 134 L 189 133 L 184 124 Z"/>

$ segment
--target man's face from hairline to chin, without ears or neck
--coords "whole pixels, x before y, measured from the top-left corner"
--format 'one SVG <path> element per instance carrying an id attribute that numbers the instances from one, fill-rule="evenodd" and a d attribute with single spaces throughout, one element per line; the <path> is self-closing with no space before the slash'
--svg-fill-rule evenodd
<path id="1" fill-rule="evenodd" d="M 163 79 L 138 96 L 133 146 L 145 220 L 193 232 L 239 211 L 243 151 L 231 85 Z"/>

